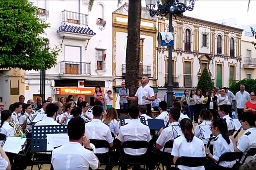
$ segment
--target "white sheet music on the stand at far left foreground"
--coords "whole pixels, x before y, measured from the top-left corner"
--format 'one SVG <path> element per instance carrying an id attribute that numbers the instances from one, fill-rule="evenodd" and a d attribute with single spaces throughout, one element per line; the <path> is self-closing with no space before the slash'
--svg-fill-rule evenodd
<path id="1" fill-rule="evenodd" d="M 26 142 L 26 138 L 17 136 L 6 136 L 6 142 L 3 145 L 3 150 L 10 153 L 19 153 L 22 145 Z"/>

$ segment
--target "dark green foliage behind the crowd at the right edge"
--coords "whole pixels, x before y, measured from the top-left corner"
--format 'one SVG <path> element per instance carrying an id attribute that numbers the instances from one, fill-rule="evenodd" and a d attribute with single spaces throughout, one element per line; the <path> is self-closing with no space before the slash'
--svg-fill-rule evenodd
<path id="1" fill-rule="evenodd" d="M 256 90 L 256 79 L 242 79 L 239 82 L 232 82 L 230 91 L 232 91 L 233 94 L 236 94 L 236 92 L 240 91 L 240 85 L 244 85 L 245 91 L 250 93 Z"/>

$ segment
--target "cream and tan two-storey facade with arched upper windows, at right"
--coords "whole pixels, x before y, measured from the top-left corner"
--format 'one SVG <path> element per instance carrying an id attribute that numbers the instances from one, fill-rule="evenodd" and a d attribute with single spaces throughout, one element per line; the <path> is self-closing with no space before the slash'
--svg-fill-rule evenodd
<path id="1" fill-rule="evenodd" d="M 158 18 L 158 31 L 168 31 L 169 21 Z M 183 16 L 173 18 L 173 86 L 176 97 L 195 89 L 204 68 L 215 87 L 228 87 L 241 79 L 242 29 Z M 166 93 L 168 49 L 157 47 L 158 96 Z"/>

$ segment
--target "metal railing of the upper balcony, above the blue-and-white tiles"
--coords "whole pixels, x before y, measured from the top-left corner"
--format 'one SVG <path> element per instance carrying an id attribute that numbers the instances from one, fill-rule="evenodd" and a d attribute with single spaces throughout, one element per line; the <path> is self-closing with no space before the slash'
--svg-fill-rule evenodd
<path id="1" fill-rule="evenodd" d="M 86 25 L 88 26 L 88 14 L 81 14 L 72 11 L 62 11 L 62 20 L 61 22 L 67 22 L 72 24 Z"/>

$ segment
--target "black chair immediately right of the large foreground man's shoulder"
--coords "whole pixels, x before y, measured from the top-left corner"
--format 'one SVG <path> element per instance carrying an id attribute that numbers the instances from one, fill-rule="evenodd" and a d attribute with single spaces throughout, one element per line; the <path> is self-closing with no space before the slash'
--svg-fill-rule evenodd
<path id="1" fill-rule="evenodd" d="M 106 140 L 90 139 L 90 143 L 94 144 L 95 149 L 99 149 L 99 148 L 108 148 L 109 149 L 110 148 L 109 143 Z M 96 153 L 95 155 L 99 159 L 100 166 L 110 164 L 109 152 L 107 152 L 107 153 Z"/>

